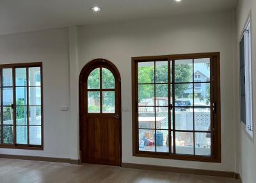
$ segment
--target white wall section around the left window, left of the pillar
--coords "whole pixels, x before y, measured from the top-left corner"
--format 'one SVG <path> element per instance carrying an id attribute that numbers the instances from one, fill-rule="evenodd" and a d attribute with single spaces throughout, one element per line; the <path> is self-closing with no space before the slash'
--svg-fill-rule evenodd
<path id="1" fill-rule="evenodd" d="M 68 29 L 0 36 L 0 63 L 42 62 L 44 74 L 44 151 L 0 148 L 0 154 L 69 157 Z"/>

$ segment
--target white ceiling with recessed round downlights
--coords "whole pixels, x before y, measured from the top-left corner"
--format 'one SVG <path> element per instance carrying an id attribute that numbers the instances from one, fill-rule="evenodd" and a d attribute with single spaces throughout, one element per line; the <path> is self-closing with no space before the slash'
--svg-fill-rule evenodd
<path id="1" fill-rule="evenodd" d="M 0 34 L 101 24 L 134 19 L 214 12 L 237 0 L 0 0 Z M 100 12 L 92 12 L 100 6 Z"/>

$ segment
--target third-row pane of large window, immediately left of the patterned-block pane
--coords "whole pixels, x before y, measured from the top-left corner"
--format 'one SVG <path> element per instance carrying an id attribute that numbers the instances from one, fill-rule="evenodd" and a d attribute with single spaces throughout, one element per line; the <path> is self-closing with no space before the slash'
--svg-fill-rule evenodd
<path id="1" fill-rule="evenodd" d="M 175 108 L 175 129 L 193 131 L 193 108 Z"/>

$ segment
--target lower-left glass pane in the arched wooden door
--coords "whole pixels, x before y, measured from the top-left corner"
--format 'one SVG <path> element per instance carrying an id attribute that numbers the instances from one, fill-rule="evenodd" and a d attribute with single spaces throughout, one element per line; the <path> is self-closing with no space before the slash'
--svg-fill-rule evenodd
<path id="1" fill-rule="evenodd" d="M 100 92 L 88 92 L 88 113 L 100 113 Z"/>

